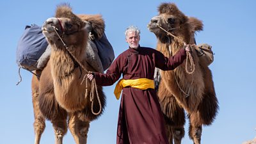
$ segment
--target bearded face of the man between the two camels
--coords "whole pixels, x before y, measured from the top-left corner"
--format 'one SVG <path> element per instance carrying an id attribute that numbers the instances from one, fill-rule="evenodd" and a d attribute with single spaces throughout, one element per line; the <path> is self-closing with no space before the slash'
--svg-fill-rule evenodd
<path id="1" fill-rule="evenodd" d="M 140 35 L 138 35 L 134 31 L 130 31 L 129 33 L 127 33 L 125 41 L 129 44 L 129 47 L 131 47 L 132 49 L 137 49 L 140 42 Z"/>

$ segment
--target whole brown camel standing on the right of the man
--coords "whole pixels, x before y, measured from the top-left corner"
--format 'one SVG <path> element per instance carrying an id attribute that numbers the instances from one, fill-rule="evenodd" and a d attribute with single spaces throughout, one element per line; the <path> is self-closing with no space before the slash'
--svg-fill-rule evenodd
<path id="1" fill-rule="evenodd" d="M 148 29 L 157 37 L 158 51 L 169 57 L 183 49 L 184 43 L 195 48 L 195 33 L 203 29 L 201 20 L 184 15 L 174 3 L 160 4 L 158 12 L 159 15 L 152 17 L 148 23 Z M 195 49 L 192 49 L 191 56 L 195 63 L 192 74 L 186 72 L 186 60 L 175 70 L 160 70 L 157 95 L 169 143 L 181 143 L 185 111 L 189 119 L 189 138 L 195 144 L 201 143 L 202 126 L 211 125 L 218 113 L 211 70 Z"/>

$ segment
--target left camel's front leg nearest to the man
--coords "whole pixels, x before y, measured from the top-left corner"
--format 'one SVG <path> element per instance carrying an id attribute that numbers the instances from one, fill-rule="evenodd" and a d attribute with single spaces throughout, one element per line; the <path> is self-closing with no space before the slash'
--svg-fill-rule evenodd
<path id="1" fill-rule="evenodd" d="M 69 115 L 68 129 L 70 129 L 77 144 L 86 144 L 90 122 L 79 120 L 77 115 Z"/>

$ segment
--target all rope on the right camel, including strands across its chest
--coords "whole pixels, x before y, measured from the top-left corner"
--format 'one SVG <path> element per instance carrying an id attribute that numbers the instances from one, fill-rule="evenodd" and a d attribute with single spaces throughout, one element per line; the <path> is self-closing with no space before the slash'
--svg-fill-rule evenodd
<path id="1" fill-rule="evenodd" d="M 165 31 L 165 32 L 167 33 L 167 35 L 173 36 L 173 38 L 176 38 L 179 42 L 181 42 L 181 43 L 183 43 L 184 45 L 186 45 L 186 43 L 183 42 L 183 40 L 180 40 L 180 38 L 178 38 L 177 36 L 175 36 L 175 35 L 173 35 L 172 33 L 166 31 L 164 28 L 162 28 L 162 27 L 160 26 L 160 24 L 157 24 L 157 26 L 158 26 L 159 28 L 161 28 L 163 31 Z M 169 37 L 168 37 L 168 39 L 169 39 Z M 170 40 L 169 40 L 169 42 L 170 42 Z M 172 56 L 171 45 L 170 45 L 169 43 L 168 43 L 168 45 L 169 45 L 168 48 L 169 48 L 170 56 Z M 190 71 L 188 70 L 188 60 L 190 61 Z M 187 58 L 186 58 L 186 65 L 185 65 L 185 68 L 186 68 L 186 72 L 187 72 L 188 74 L 193 74 L 193 72 L 195 71 L 195 62 L 194 62 L 194 60 L 193 60 L 193 56 L 192 56 L 191 52 L 187 52 Z M 182 88 L 180 87 L 180 84 L 178 83 L 175 74 L 174 74 L 174 78 L 175 78 L 175 82 L 177 83 L 177 86 L 179 87 L 180 91 L 181 91 L 182 93 L 184 93 L 184 95 L 185 95 L 186 98 L 189 97 L 190 86 L 189 86 L 189 89 L 188 89 L 188 93 L 186 93 L 186 92 L 184 92 L 184 90 L 182 90 Z M 194 77 L 192 77 L 192 81 L 191 81 L 191 84 L 190 84 L 190 85 L 192 85 L 193 81 L 194 81 Z"/>

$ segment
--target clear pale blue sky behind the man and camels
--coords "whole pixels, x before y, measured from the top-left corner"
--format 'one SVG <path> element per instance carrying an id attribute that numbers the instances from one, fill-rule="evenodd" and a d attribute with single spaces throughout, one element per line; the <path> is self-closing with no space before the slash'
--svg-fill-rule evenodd
<path id="1" fill-rule="evenodd" d="M 19 86 L 15 63 L 17 42 L 26 25 L 42 25 L 54 15 L 56 5 L 68 2 L 74 13 L 101 14 L 106 22 L 106 35 L 115 56 L 127 49 L 124 31 L 129 25 L 141 29 L 140 45 L 156 47 L 156 36 L 147 29 L 157 6 L 173 2 L 186 15 L 204 22 L 204 31 L 197 33 L 198 44 L 212 45 L 215 53 L 210 65 L 220 111 L 213 124 L 203 127 L 202 143 L 238 144 L 256 136 L 256 1 L 1 1 L 0 2 L 0 144 L 34 143 L 31 76 L 22 70 Z M 107 106 L 104 114 L 90 125 L 89 144 L 116 143 L 116 123 L 120 100 L 113 95 L 114 86 L 104 87 Z M 49 121 L 41 143 L 54 143 Z M 63 143 L 75 143 L 70 132 Z M 182 143 L 193 143 L 186 135 Z"/>

